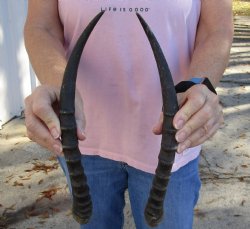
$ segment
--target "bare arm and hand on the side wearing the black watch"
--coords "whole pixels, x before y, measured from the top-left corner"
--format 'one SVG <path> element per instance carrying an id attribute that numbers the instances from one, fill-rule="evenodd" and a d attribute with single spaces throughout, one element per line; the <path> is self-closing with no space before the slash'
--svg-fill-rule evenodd
<path id="1" fill-rule="evenodd" d="M 227 66 L 233 38 L 232 1 L 201 0 L 201 17 L 195 48 L 189 69 L 189 78 L 207 77 L 214 87 L 218 85 Z M 223 12 L 223 13 L 222 13 Z M 219 97 L 204 85 L 195 85 L 178 96 L 180 110 L 173 124 L 178 129 L 178 152 L 202 144 L 223 123 Z M 153 129 L 161 133 L 160 122 Z"/>

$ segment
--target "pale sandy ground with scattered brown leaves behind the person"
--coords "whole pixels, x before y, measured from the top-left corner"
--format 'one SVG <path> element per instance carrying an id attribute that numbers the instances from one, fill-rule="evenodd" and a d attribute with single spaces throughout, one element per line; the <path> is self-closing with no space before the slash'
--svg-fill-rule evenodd
<path id="1" fill-rule="evenodd" d="M 231 59 L 217 91 L 225 125 L 201 154 L 195 229 L 250 228 L 250 18 L 235 20 Z M 19 117 L 0 131 L 0 229 L 78 228 L 57 161 L 25 134 Z M 124 229 L 135 228 L 129 201 Z"/>

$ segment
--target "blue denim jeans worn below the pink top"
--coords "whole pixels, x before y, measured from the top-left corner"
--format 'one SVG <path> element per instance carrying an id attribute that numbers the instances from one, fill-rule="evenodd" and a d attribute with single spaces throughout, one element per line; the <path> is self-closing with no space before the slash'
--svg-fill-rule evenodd
<path id="1" fill-rule="evenodd" d="M 193 209 L 197 203 L 200 179 L 198 158 L 173 172 L 164 202 L 164 218 L 157 229 L 191 229 Z M 70 186 L 63 157 L 59 162 Z M 132 214 L 137 229 L 150 228 L 144 219 L 144 208 L 153 175 L 126 163 L 99 156 L 82 156 L 82 165 L 90 187 L 93 215 L 84 229 L 121 229 L 124 223 L 124 192 L 128 189 Z"/>

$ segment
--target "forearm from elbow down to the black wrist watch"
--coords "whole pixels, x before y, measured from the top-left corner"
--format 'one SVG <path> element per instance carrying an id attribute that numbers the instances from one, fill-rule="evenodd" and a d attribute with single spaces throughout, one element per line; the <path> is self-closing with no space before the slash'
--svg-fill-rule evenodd
<path id="1" fill-rule="evenodd" d="M 189 76 L 207 77 L 214 87 L 222 78 L 228 64 L 232 31 L 215 31 L 196 43 Z"/>

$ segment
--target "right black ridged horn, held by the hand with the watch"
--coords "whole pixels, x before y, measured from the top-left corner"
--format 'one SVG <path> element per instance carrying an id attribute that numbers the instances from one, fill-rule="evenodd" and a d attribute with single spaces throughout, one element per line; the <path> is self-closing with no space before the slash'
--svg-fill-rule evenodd
<path id="1" fill-rule="evenodd" d="M 167 61 L 161 47 L 144 19 L 137 13 L 137 17 L 148 37 L 157 63 L 163 100 L 163 126 L 159 161 L 150 190 L 144 215 L 151 227 L 157 226 L 163 218 L 163 203 L 166 195 L 171 169 L 174 163 L 178 143 L 175 139 L 176 129 L 173 118 L 179 110 L 175 87 Z"/>

